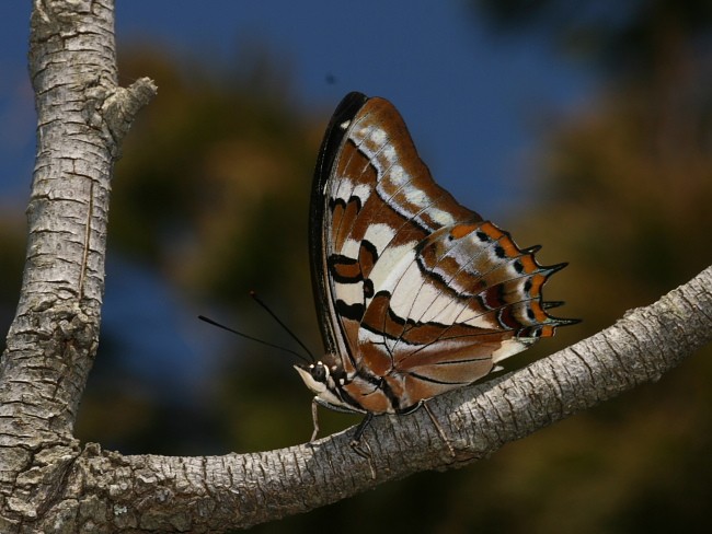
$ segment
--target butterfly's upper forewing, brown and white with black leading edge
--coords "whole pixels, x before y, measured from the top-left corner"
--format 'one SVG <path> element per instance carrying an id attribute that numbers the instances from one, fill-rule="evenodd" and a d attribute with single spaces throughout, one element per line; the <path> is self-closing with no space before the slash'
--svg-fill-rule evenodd
<path id="1" fill-rule="evenodd" d="M 388 268 L 452 222 L 448 207 L 480 219 L 433 182 L 389 102 L 349 93 L 326 129 L 310 208 L 312 287 L 328 353 L 356 348 L 376 263 Z"/>

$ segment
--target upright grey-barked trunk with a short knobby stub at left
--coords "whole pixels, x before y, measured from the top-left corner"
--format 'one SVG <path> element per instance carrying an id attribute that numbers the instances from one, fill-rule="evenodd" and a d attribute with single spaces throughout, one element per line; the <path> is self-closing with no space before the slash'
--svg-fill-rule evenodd
<path id="1" fill-rule="evenodd" d="M 0 362 L 0 532 L 46 512 L 77 457 L 99 340 L 108 191 L 120 140 L 156 92 L 116 85 L 112 1 L 39 1 L 30 74 L 37 155 L 22 291 Z"/>

